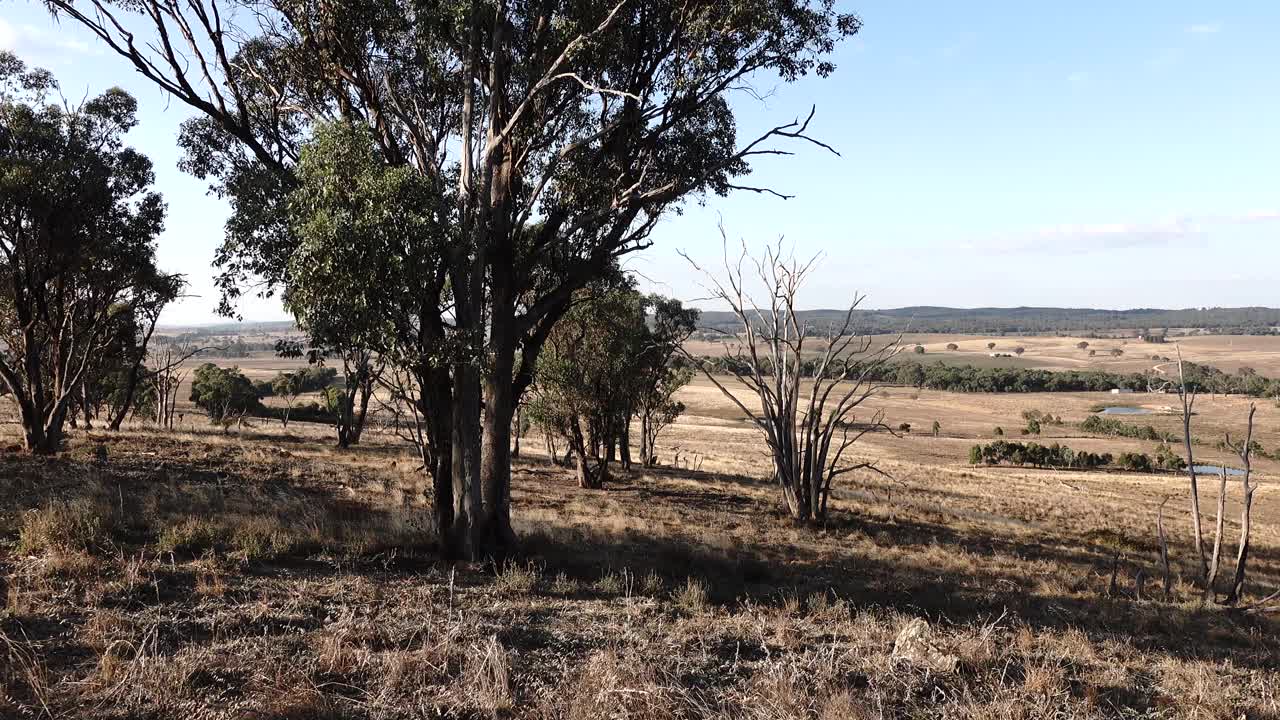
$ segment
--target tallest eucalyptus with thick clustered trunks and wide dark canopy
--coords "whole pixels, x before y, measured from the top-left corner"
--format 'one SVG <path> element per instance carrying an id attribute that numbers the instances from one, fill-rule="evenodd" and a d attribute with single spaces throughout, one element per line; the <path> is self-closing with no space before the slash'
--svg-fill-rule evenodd
<path id="1" fill-rule="evenodd" d="M 284 206 L 317 123 L 365 126 L 383 161 L 445 201 L 448 296 L 413 316 L 448 336 L 447 373 L 433 372 L 448 388 L 430 391 L 430 413 L 449 428 L 453 493 L 436 502 L 453 503 L 440 532 L 467 556 L 515 539 L 511 420 L 573 293 L 646 247 L 686 199 L 781 195 L 740 178 L 788 152 L 776 141 L 812 141 L 809 119 L 740 138 L 730 100 L 828 76 L 836 42 L 859 28 L 835 0 L 49 5 L 200 113 L 186 164 L 232 204 L 227 309 L 252 284 L 287 283 L 297 238 Z"/>

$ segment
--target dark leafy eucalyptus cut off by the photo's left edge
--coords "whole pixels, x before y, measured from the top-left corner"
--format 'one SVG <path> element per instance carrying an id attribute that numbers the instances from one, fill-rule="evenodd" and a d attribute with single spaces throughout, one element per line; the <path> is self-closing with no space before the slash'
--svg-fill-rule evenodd
<path id="1" fill-rule="evenodd" d="M 180 287 L 155 263 L 165 209 L 151 161 L 124 146 L 137 102 L 118 88 L 81 105 L 56 95 L 49 72 L 0 53 L 0 379 L 38 454 L 59 448 L 120 329 Z"/>

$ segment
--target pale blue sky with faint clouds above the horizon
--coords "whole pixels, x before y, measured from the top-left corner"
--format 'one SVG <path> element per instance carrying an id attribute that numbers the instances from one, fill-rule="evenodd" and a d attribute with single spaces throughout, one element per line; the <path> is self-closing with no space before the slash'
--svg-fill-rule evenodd
<path id="1" fill-rule="evenodd" d="M 804 117 L 835 147 L 755 163 L 750 192 L 689 202 L 626 266 L 650 291 L 704 297 L 721 231 L 822 260 L 805 307 L 1280 305 L 1280 4 L 842 3 L 863 19 L 836 73 L 756 82 L 740 138 Z M 129 141 L 169 204 L 159 260 L 193 297 L 168 324 L 211 323 L 227 206 L 177 169 L 189 110 L 38 3 L 0 5 L 0 47 L 69 99 L 119 85 Z M 705 305 L 712 307 L 712 305 Z M 287 318 L 273 300 L 246 320 Z"/>

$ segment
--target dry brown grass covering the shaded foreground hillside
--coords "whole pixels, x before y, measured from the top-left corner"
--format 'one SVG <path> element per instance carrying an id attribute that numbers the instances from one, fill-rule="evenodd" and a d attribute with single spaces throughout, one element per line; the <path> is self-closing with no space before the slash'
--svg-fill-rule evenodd
<path id="1" fill-rule="evenodd" d="M 852 478 L 826 528 L 796 528 L 759 439 L 695 411 L 666 442 L 701 471 L 584 492 L 526 460 L 526 555 L 451 568 L 406 452 L 289 430 L 0 455 L 0 716 L 1280 717 L 1270 616 L 1187 582 L 1151 597 L 1178 478 L 972 469 L 947 438 L 877 438 L 895 479 Z M 1260 492 L 1254 598 L 1280 587 L 1275 502 Z M 893 656 L 918 620 L 946 662 Z"/>

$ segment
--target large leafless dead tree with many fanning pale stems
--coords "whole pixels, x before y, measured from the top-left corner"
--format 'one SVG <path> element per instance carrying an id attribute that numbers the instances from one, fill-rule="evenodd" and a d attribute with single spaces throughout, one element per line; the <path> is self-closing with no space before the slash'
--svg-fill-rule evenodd
<path id="1" fill-rule="evenodd" d="M 733 395 L 708 364 L 686 356 L 764 432 L 774 480 L 791 518 L 822 523 L 832 482 L 858 469 L 876 469 L 872 462 L 851 462 L 845 454 L 868 432 L 888 430 L 888 425 L 882 414 L 864 424 L 855 424 L 851 415 L 879 389 L 878 370 L 899 351 L 900 342 L 877 347 L 870 336 L 851 332 L 861 296 L 854 297 L 842 320 L 824 332 L 800 318 L 796 301 L 817 266 L 817 256 L 801 263 L 778 241 L 756 259 L 744 242 L 737 260 L 731 261 L 723 228 L 721 237 L 723 281 L 685 259 L 707 277 L 712 296 L 728 304 L 736 315 L 740 329 L 728 334 L 739 350 L 727 365 L 733 378 L 756 396 L 758 407 L 749 407 Z M 754 277 L 744 272 L 748 263 L 754 266 Z M 763 284 L 765 304 L 751 297 L 749 282 Z"/>

